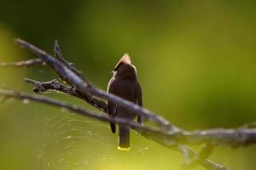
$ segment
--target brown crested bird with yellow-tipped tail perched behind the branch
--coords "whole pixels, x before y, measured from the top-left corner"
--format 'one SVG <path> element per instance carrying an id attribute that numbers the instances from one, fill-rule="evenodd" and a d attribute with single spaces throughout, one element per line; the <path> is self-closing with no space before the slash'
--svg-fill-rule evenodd
<path id="1" fill-rule="evenodd" d="M 108 82 L 108 94 L 114 94 L 120 98 L 131 101 L 136 105 L 143 106 L 143 93 L 140 83 L 137 81 L 137 69 L 131 64 L 129 54 L 125 54 L 111 71 L 113 77 Z M 134 120 L 136 114 L 123 106 L 116 105 L 108 100 L 108 116 L 121 117 L 128 120 Z M 142 123 L 143 117 L 137 116 L 137 122 Z M 110 122 L 112 133 L 116 132 L 114 122 Z M 119 123 L 119 150 L 130 150 L 130 129 Z"/>

